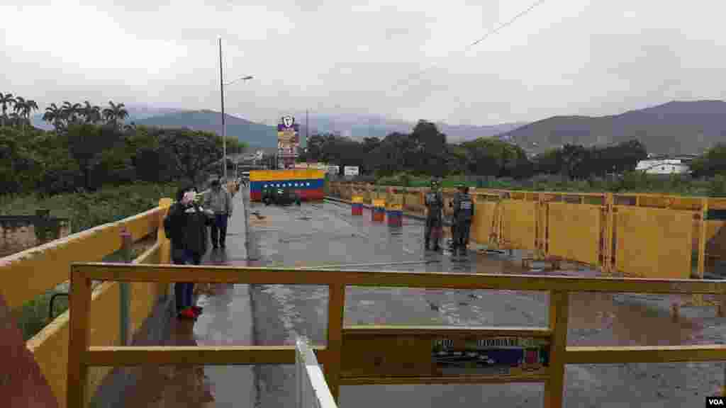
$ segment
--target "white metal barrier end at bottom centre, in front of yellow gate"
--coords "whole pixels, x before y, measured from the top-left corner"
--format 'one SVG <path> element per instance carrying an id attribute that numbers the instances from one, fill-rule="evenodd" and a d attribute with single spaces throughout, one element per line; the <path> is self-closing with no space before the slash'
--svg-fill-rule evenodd
<path id="1" fill-rule="evenodd" d="M 306 338 L 295 342 L 295 408 L 337 408 L 315 353 Z"/>

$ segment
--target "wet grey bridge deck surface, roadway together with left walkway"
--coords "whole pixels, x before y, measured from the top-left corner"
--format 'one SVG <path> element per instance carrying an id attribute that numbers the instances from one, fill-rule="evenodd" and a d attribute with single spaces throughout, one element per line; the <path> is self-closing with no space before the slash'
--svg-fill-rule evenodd
<path id="1" fill-rule="evenodd" d="M 235 204 L 238 210 L 230 221 L 227 250 L 208 254 L 207 264 L 347 264 L 367 270 L 533 273 L 523 269 L 516 256 L 470 253 L 456 260 L 447 253 L 425 253 L 423 221 L 406 218 L 402 227 L 388 227 L 372 223 L 368 211 L 351 216 L 348 205 L 333 202 L 300 207 L 252 203 L 245 240 L 240 195 Z M 595 272 L 583 269 L 568 274 L 592 276 Z M 202 292 L 199 303 L 205 307 L 204 314 L 193 327 L 178 322 L 168 343 L 279 346 L 293 344 L 296 335 L 305 335 L 314 344 L 325 344 L 326 287 L 216 285 Z M 725 338 L 726 319 L 715 317 L 713 308 L 684 309 L 685 318 L 674 322 L 669 314 L 671 301 L 650 295 L 574 294 L 568 345 L 676 345 L 716 343 Z M 520 291 L 350 287 L 345 324 L 542 327 L 547 325 L 547 303 L 544 293 Z M 294 404 L 293 366 L 170 369 L 166 374 L 164 370 L 150 369 L 155 377 L 147 381 L 157 402 L 139 400 L 126 406 L 267 408 Z M 716 363 L 582 365 L 566 370 L 566 407 L 699 407 L 704 396 L 716 394 L 724 383 L 723 365 Z M 192 399 L 194 404 L 182 403 Z M 344 386 L 340 406 L 454 408 L 482 402 L 492 407 L 539 407 L 542 385 Z"/>

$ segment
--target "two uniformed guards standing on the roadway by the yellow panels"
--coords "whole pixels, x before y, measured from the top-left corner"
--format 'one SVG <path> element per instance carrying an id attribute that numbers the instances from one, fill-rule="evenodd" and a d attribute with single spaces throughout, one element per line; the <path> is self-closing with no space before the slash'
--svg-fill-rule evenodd
<path id="1" fill-rule="evenodd" d="M 449 202 L 449 208 L 453 209 L 450 249 L 454 255 L 458 251 L 461 256 L 464 256 L 469 245 L 469 232 L 474 218 L 474 203 L 469 195 L 469 187 L 457 184 L 457 189 L 459 191 L 454 196 L 454 200 Z M 441 195 L 439 182 L 436 180 L 431 181 L 431 191 L 425 196 L 425 205 L 427 209 L 424 230 L 425 250 L 429 250 L 429 244 L 433 240 L 433 250 L 438 251 L 441 249 L 439 240 L 441 240 L 444 225 L 444 197 Z"/>

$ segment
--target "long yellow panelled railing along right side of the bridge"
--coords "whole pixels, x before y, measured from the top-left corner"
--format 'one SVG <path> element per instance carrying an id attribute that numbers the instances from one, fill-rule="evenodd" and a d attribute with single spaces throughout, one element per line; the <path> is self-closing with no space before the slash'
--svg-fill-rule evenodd
<path id="1" fill-rule="evenodd" d="M 333 194 L 352 188 L 331 187 Z M 381 189 L 355 188 L 375 198 Z M 398 200 L 405 210 L 424 215 L 427 190 L 401 189 Z M 447 215 L 455 191 L 442 191 Z M 706 219 L 709 209 L 726 209 L 725 198 L 502 189 L 472 189 L 470 194 L 477 205 L 471 236 L 481 245 L 527 250 L 534 258 L 575 261 L 632 277 L 703 278 L 717 259 L 726 258 L 726 221 Z"/>

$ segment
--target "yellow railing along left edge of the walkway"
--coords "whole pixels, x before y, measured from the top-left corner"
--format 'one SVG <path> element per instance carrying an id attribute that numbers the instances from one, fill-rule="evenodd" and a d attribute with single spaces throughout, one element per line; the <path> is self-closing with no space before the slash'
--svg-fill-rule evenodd
<path id="1" fill-rule="evenodd" d="M 78 261 L 100 261 L 110 253 L 121 249 L 121 232 L 131 234 L 132 242 L 153 236 L 156 242 L 134 260 L 150 264 L 168 262 L 168 240 L 163 232 L 163 216 L 171 200 L 163 198 L 157 208 L 110 224 L 69 235 L 60 240 L 48 242 L 11 256 L 0 258 L 0 273 L 4 284 L 0 291 L 9 307 L 17 309 L 37 295 L 52 290 L 70 279 L 70 264 Z M 157 285 L 133 284 L 129 290 L 129 330 L 139 331 L 149 317 L 155 301 L 162 294 Z M 116 345 L 121 340 L 120 317 L 121 290 L 115 282 L 95 287 L 92 300 L 93 339 L 106 345 Z M 33 357 L 41 368 L 60 407 L 66 401 L 66 369 L 68 367 L 68 311 L 55 317 L 40 332 L 26 342 Z M 91 378 L 92 392 L 108 375 L 110 370 L 97 370 Z"/>

